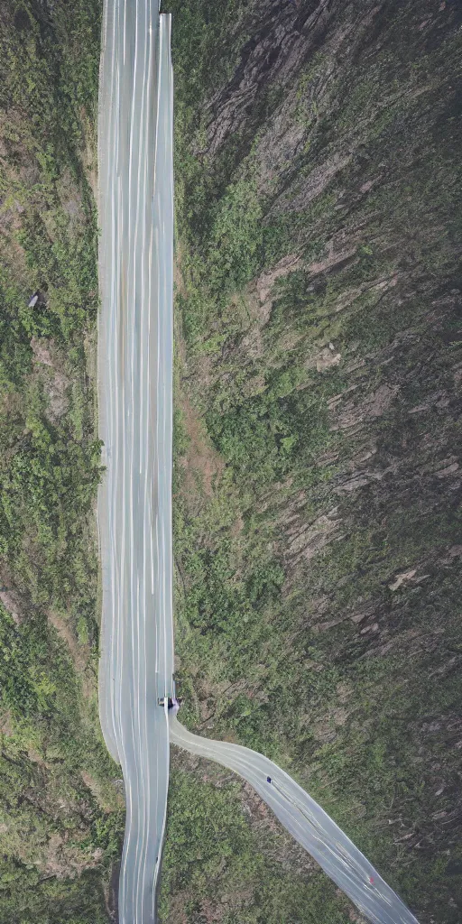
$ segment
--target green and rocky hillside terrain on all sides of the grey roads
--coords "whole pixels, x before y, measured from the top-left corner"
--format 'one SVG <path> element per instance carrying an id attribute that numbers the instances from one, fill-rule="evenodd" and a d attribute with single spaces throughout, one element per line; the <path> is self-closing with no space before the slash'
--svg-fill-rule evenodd
<path id="1" fill-rule="evenodd" d="M 422 924 L 456 924 L 459 13 L 308 6 L 165 4 L 182 715 L 278 760 Z M 124 817 L 96 702 L 101 6 L 44 9 L 2 11 L 0 924 L 100 924 Z M 160 908 L 353 913 L 178 754 Z"/>

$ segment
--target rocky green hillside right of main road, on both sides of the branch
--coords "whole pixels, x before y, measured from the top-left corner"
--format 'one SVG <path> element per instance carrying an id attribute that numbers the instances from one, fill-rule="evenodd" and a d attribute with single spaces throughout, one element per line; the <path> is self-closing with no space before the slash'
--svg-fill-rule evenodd
<path id="1" fill-rule="evenodd" d="M 164 8 L 183 719 L 279 761 L 456 924 L 460 9 Z M 165 921 L 351 918 L 245 788 L 175 760 Z"/>

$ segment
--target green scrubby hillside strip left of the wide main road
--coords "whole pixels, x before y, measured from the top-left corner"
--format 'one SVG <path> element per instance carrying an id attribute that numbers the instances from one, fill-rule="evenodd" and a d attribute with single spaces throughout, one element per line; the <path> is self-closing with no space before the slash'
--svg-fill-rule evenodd
<path id="1" fill-rule="evenodd" d="M 100 16 L 0 6 L 1 924 L 109 920 L 123 831 L 96 699 Z"/>

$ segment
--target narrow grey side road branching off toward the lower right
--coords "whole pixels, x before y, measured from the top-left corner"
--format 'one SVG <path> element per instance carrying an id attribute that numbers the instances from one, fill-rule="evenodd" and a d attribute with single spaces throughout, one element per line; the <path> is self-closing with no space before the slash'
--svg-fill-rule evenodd
<path id="1" fill-rule="evenodd" d="M 308 850 L 373 924 L 418 924 L 358 847 L 272 760 L 240 745 L 192 735 L 175 715 L 170 715 L 170 741 L 178 748 L 223 764 L 247 780 L 298 844 Z"/>

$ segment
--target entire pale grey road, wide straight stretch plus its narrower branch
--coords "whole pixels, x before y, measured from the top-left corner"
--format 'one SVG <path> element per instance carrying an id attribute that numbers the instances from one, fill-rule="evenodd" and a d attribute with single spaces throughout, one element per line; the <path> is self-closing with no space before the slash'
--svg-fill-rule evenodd
<path id="1" fill-rule="evenodd" d="M 127 821 L 120 924 L 153 924 L 169 742 L 246 779 L 377 924 L 417 924 L 366 857 L 286 772 L 191 735 L 174 711 L 172 603 L 173 78 L 158 0 L 104 0 L 99 104 L 100 716 Z M 294 701 L 294 708 L 296 708 Z M 218 847 L 217 847 L 218 849 Z"/>

